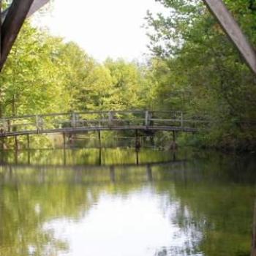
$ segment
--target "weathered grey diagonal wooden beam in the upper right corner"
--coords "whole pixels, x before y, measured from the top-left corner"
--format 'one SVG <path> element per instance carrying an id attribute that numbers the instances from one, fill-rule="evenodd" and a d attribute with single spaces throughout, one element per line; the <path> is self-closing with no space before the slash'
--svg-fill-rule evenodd
<path id="1" fill-rule="evenodd" d="M 210 12 L 217 18 L 219 24 L 224 29 L 233 44 L 244 57 L 246 64 L 256 74 L 256 53 L 248 39 L 241 31 L 233 15 L 227 10 L 222 0 L 203 0 Z"/>

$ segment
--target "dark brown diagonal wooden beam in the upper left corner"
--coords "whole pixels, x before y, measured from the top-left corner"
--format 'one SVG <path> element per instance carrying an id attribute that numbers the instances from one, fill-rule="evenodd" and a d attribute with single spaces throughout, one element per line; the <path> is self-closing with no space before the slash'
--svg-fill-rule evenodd
<path id="1" fill-rule="evenodd" d="M 4 66 L 7 56 L 12 49 L 21 26 L 29 13 L 34 0 L 13 0 L 7 17 L 1 26 L 1 59 L 0 69 Z"/>

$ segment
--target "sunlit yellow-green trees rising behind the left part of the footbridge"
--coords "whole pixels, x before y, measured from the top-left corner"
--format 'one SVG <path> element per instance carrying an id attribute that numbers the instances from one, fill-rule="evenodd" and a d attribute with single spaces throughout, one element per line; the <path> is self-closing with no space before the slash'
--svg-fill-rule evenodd
<path id="1" fill-rule="evenodd" d="M 122 59 L 99 64 L 74 42 L 26 23 L 0 77 L 0 116 L 141 108 L 144 69 Z"/>

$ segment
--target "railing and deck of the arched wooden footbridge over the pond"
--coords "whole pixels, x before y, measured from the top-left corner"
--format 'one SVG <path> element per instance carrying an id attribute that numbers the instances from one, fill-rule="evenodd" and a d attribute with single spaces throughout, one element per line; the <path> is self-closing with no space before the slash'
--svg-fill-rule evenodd
<path id="1" fill-rule="evenodd" d="M 197 132 L 207 124 L 208 121 L 183 112 L 135 110 L 51 113 L 0 118 L 0 138 L 106 130 Z"/>

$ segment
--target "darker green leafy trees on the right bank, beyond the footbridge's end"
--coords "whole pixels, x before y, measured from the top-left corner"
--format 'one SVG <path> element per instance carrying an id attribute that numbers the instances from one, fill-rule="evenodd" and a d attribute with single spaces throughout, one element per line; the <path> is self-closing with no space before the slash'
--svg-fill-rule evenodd
<path id="1" fill-rule="evenodd" d="M 203 1 L 160 1 L 170 15 L 148 13 L 156 104 L 213 121 L 200 143 L 252 148 L 256 134 L 256 80 Z M 250 41 L 256 43 L 252 1 L 226 1 Z M 204 138 L 204 139 L 202 139 Z M 249 140 L 249 141 L 248 141 Z"/>

